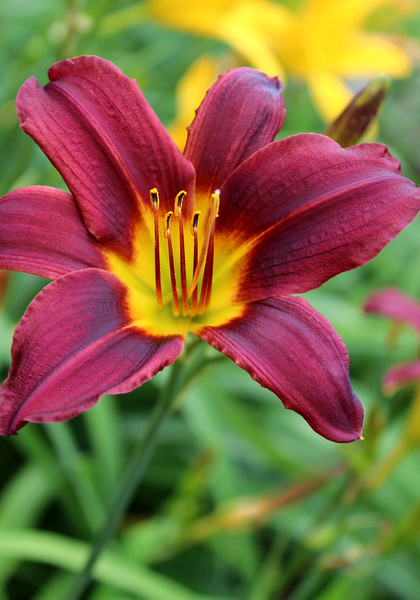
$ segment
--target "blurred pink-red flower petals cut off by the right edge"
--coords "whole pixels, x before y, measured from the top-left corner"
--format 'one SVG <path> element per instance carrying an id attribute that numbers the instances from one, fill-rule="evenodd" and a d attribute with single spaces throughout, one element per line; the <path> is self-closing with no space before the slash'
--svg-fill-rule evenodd
<path id="1" fill-rule="evenodd" d="M 368 313 L 405 323 L 420 335 L 420 303 L 397 288 L 385 288 L 372 294 L 365 303 Z M 384 375 L 384 388 L 394 393 L 399 387 L 420 380 L 420 359 L 391 367 Z"/>

